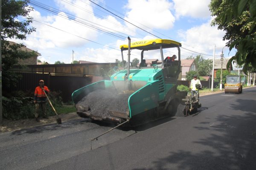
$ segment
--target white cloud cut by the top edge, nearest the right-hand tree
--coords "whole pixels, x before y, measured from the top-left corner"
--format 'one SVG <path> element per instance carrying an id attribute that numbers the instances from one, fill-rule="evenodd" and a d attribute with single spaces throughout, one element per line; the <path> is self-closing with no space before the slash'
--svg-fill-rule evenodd
<path id="1" fill-rule="evenodd" d="M 175 16 L 193 18 L 208 18 L 210 16 L 209 3 L 211 0 L 173 0 Z"/>

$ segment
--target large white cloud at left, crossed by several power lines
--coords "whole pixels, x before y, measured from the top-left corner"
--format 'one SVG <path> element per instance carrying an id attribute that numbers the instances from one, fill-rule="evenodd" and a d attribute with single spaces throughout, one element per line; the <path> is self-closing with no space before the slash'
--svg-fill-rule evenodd
<path id="1" fill-rule="evenodd" d="M 97 37 L 102 34 L 96 31 L 95 27 L 93 29 L 88 28 L 88 24 L 111 32 L 125 32 L 126 28 L 114 17 L 107 16 L 106 19 L 95 17 L 92 6 L 88 5 L 89 1 L 84 3 L 81 0 L 75 0 L 73 1 L 74 6 L 60 0 L 56 2 L 61 10 L 67 13 L 60 12 L 58 16 L 53 14 L 41 16 L 40 12 L 31 11 L 30 16 L 38 22 L 34 21 L 31 24 L 36 28 L 36 32 L 28 35 L 25 41 L 30 48 L 44 50 L 58 47 L 83 47 L 88 42 L 87 40 L 96 41 Z M 69 15 L 76 15 L 73 16 L 76 19 L 75 22 L 68 19 L 68 13 Z M 87 23 L 87 26 L 84 26 L 85 23 Z"/>

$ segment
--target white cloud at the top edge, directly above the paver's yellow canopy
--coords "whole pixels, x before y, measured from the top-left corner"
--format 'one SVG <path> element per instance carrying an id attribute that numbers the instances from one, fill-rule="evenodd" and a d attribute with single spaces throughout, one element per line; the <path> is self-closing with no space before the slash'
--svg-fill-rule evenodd
<path id="1" fill-rule="evenodd" d="M 175 22 L 175 17 L 170 11 L 172 6 L 167 0 L 128 0 L 126 8 L 130 11 L 127 12 L 125 20 L 131 23 L 136 21 L 143 28 L 146 26 L 151 29 L 169 29 Z"/>

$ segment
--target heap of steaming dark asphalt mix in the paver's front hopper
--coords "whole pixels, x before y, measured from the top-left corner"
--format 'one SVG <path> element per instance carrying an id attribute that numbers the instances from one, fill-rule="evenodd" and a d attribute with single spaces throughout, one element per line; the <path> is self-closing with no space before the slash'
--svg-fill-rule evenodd
<path id="1" fill-rule="evenodd" d="M 108 116 L 108 110 L 128 110 L 128 98 L 130 94 L 116 94 L 114 91 L 96 90 L 81 99 L 77 106 L 89 106 L 90 114 L 94 117 Z"/>

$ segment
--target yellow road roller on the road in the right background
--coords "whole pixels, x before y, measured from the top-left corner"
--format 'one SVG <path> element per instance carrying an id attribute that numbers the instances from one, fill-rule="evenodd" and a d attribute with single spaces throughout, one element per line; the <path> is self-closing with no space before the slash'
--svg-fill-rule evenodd
<path id="1" fill-rule="evenodd" d="M 241 94 L 243 91 L 243 86 L 241 84 L 241 76 L 237 75 L 228 75 L 226 77 L 226 83 L 224 85 L 225 94 Z"/>

